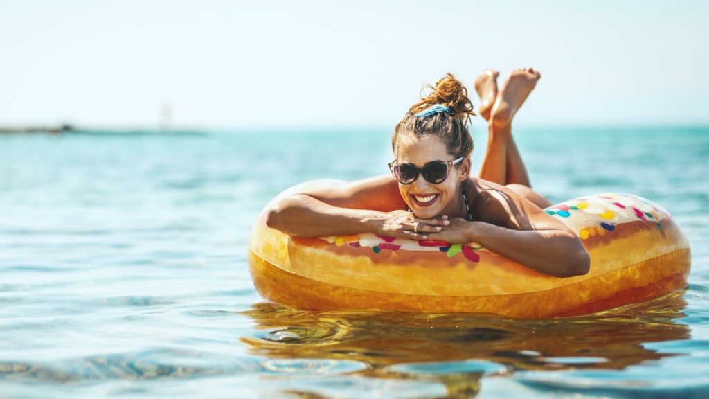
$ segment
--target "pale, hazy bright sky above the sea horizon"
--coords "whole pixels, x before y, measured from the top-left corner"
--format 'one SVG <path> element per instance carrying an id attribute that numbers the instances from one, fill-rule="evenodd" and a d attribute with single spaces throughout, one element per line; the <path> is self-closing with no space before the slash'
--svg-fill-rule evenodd
<path id="1" fill-rule="evenodd" d="M 518 123 L 707 125 L 708 16 L 686 0 L 0 0 L 0 126 L 393 126 L 445 72 L 473 92 L 486 67 L 528 66 L 542 80 Z"/>

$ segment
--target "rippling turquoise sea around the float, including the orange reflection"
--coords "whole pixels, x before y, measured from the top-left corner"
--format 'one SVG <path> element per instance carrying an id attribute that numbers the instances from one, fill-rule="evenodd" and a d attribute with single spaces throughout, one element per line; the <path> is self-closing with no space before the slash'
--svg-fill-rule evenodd
<path id="1" fill-rule="evenodd" d="M 709 129 L 515 134 L 552 200 L 674 214 L 688 289 L 573 319 L 291 310 L 252 287 L 252 222 L 387 173 L 386 129 L 0 136 L 0 397 L 707 397 Z"/>

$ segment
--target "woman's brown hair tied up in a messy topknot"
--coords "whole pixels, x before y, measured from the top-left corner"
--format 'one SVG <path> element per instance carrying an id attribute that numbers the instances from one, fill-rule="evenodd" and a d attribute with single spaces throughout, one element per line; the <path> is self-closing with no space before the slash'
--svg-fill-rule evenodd
<path id="1" fill-rule="evenodd" d="M 411 134 L 422 137 L 429 134 L 442 138 L 448 152 L 455 158 L 467 157 L 473 151 L 473 138 L 468 131 L 470 116 L 474 116 L 473 104 L 468 99 L 468 89 L 450 72 L 436 82 L 435 87 L 427 84 L 421 89 L 430 89 L 427 96 L 413 104 L 406 116 L 396 124 L 391 135 L 391 148 L 396 155 L 396 146 L 401 135 Z M 433 105 L 442 105 L 450 111 L 439 111 L 426 116 L 417 116 Z"/>

